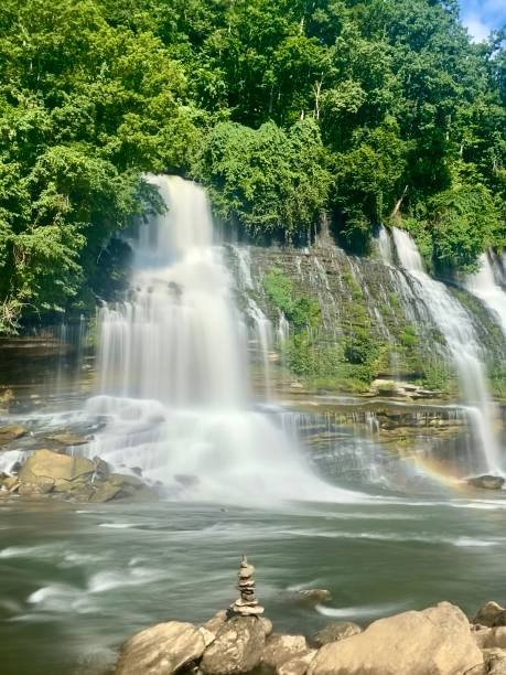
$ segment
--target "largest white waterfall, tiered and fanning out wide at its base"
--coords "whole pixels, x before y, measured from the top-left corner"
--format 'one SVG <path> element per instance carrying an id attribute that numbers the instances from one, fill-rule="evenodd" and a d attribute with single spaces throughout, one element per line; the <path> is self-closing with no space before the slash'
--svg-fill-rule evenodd
<path id="1" fill-rule="evenodd" d="M 248 407 L 246 345 L 205 193 L 179 178 L 152 182 L 169 211 L 132 242 L 128 301 L 100 311 L 101 395 L 88 411 L 108 424 L 87 454 L 138 467 L 177 499 L 356 499 L 316 478 L 273 416 Z"/>

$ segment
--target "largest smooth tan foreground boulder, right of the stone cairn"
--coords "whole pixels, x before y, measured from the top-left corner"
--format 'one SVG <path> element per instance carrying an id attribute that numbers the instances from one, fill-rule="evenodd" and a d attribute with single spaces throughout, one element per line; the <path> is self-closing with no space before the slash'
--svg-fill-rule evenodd
<path id="1" fill-rule="evenodd" d="M 372 623 L 319 650 L 309 675 L 483 675 L 464 613 L 448 602 Z"/>

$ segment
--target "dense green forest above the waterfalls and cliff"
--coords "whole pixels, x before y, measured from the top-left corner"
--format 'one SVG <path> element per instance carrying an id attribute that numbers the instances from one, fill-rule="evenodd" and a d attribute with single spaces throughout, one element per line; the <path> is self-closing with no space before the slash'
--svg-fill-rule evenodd
<path id="1" fill-rule="evenodd" d="M 325 213 L 351 251 L 395 224 L 473 271 L 506 244 L 504 33 L 473 43 L 454 0 L 3 0 L 0 333 L 121 288 L 159 172 L 239 238 Z"/>

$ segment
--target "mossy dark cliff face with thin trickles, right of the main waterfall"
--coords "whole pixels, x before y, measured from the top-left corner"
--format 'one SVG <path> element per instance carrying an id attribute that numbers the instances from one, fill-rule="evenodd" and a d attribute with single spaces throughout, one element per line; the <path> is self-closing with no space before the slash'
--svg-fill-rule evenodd
<path id="1" fill-rule="evenodd" d="M 228 255 L 250 324 L 258 329 L 259 315 L 270 321 L 270 376 L 283 364 L 284 375 L 310 390 L 366 392 L 381 378 L 459 398 L 430 298 L 399 267 L 349 256 L 329 240 L 305 249 L 229 247 Z M 472 322 L 491 389 L 502 399 L 506 343 L 497 318 L 465 289 L 446 289 Z M 293 307 L 306 312 L 305 323 Z"/>

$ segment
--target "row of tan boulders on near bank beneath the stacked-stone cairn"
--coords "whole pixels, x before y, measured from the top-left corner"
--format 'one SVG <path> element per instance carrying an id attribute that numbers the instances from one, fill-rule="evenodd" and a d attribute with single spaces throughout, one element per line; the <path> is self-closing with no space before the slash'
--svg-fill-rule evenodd
<path id="1" fill-rule="evenodd" d="M 115 675 L 505 675 L 506 610 L 488 602 L 470 621 L 441 602 L 363 630 L 331 623 L 286 635 L 260 617 L 219 611 L 201 626 L 169 621 L 122 646 Z"/>

